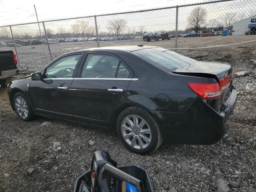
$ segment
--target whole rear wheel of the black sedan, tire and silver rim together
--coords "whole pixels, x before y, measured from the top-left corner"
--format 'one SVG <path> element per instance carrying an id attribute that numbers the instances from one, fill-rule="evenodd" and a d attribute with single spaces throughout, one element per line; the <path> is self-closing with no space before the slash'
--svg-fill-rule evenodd
<path id="1" fill-rule="evenodd" d="M 154 118 L 140 108 L 129 107 L 122 111 L 116 129 L 122 144 L 137 154 L 152 153 L 163 141 Z"/>

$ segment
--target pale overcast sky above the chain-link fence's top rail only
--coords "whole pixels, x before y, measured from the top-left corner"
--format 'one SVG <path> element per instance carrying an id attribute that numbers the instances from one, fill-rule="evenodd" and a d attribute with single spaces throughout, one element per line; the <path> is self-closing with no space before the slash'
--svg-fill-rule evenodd
<path id="1" fill-rule="evenodd" d="M 199 1 L 201 0 L 0 0 L 0 26 L 36 22 L 34 5 L 38 20 L 43 21 L 176 6 Z"/>

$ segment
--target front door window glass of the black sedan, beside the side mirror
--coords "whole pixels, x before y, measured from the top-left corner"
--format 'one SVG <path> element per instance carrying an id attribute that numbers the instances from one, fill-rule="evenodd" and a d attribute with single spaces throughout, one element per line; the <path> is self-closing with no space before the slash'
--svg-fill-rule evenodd
<path id="1" fill-rule="evenodd" d="M 70 55 L 54 62 L 45 72 L 45 78 L 71 78 L 81 54 Z"/>

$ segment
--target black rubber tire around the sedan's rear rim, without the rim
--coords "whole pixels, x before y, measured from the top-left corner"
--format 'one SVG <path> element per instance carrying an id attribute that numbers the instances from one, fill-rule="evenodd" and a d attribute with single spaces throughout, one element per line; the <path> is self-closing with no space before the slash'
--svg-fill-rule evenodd
<path id="1" fill-rule="evenodd" d="M 151 143 L 149 144 L 149 146 L 142 150 L 132 148 L 129 144 L 126 143 L 126 141 L 124 140 L 124 138 L 122 136 L 122 132 L 121 132 L 122 121 L 124 120 L 124 118 L 126 116 L 132 115 L 132 114 L 138 115 L 138 116 L 144 118 L 144 120 L 146 120 L 146 122 L 150 126 L 152 140 L 151 140 Z M 124 144 L 124 146 L 132 152 L 135 152 L 137 154 L 149 154 L 151 152 L 154 152 L 154 150 L 156 150 L 156 148 L 158 148 L 158 143 L 160 140 L 159 127 L 156 124 L 155 120 L 148 113 L 146 113 L 145 111 L 143 111 L 139 108 L 127 108 L 124 111 L 122 111 L 122 113 L 118 116 L 118 120 L 116 123 L 116 130 L 117 130 L 118 136 L 120 137 L 120 139 L 122 141 L 122 144 Z"/>

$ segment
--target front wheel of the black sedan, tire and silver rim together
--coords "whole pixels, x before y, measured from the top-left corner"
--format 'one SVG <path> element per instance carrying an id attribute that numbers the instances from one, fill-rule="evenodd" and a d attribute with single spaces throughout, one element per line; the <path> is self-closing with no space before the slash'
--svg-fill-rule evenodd
<path id="1" fill-rule="evenodd" d="M 35 118 L 31 104 L 24 94 L 18 92 L 13 97 L 14 110 L 18 117 L 23 121 L 31 121 Z"/>

